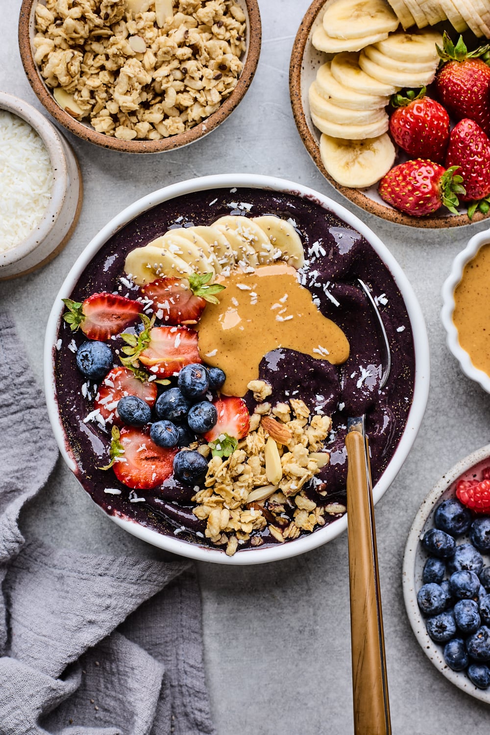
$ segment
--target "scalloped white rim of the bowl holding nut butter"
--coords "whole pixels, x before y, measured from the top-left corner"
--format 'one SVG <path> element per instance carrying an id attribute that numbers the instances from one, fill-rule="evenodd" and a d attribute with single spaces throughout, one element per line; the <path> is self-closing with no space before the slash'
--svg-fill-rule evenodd
<path id="1" fill-rule="evenodd" d="M 442 284 L 442 309 L 441 309 L 441 320 L 446 330 L 446 344 L 450 351 L 453 353 L 455 358 L 458 360 L 461 370 L 464 374 L 476 381 L 483 390 L 490 393 L 490 376 L 475 368 L 471 357 L 464 350 L 458 340 L 458 330 L 456 329 L 455 323 L 453 322 L 453 313 L 455 309 L 454 292 L 455 288 L 461 282 L 463 276 L 463 270 L 465 265 L 475 257 L 480 248 L 483 245 L 490 243 L 490 229 L 483 230 L 473 235 L 466 245 L 466 248 L 462 250 L 453 260 L 450 274 Z"/>

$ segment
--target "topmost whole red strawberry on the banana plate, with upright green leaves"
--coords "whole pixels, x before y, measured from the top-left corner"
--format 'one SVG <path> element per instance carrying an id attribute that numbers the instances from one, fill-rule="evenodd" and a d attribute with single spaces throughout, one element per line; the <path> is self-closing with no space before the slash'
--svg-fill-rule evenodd
<path id="1" fill-rule="evenodd" d="M 447 112 L 455 120 L 474 120 L 490 134 L 490 67 L 478 58 L 489 46 L 468 51 L 462 36 L 454 46 L 444 32 L 443 48 L 437 50 L 444 65 L 436 76 L 436 90 Z"/>

